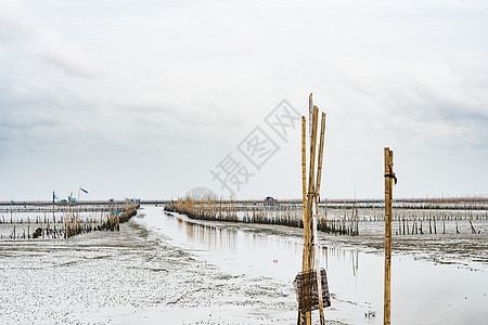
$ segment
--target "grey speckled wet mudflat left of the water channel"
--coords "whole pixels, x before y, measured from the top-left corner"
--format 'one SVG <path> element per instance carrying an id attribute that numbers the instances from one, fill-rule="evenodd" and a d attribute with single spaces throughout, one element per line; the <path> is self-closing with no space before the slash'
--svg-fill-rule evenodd
<path id="1" fill-rule="evenodd" d="M 0 242 L 0 323 L 294 322 L 290 284 L 222 272 L 139 220 L 120 227 L 67 240 Z"/>

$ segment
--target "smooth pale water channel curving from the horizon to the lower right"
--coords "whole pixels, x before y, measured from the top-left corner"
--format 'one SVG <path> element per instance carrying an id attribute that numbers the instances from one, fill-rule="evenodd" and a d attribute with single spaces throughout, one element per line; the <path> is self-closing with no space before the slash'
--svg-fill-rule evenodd
<path id="1" fill-rule="evenodd" d="M 146 209 L 144 222 L 176 246 L 234 275 L 252 274 L 287 283 L 300 271 L 300 238 L 260 233 L 232 223 L 189 220 L 177 213 Z M 383 322 L 384 257 L 359 249 L 320 247 L 328 271 L 332 307 L 328 320 L 345 323 Z M 395 245 L 395 244 L 394 244 Z M 484 324 L 488 318 L 488 269 L 435 264 L 409 255 L 393 255 L 391 322 L 394 324 Z M 373 311 L 376 316 L 367 317 Z"/>

